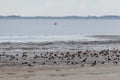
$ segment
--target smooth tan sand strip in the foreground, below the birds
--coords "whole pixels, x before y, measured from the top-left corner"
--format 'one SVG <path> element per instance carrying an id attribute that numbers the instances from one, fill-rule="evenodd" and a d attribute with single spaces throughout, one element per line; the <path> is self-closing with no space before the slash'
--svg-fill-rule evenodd
<path id="1" fill-rule="evenodd" d="M 0 67 L 0 80 L 119 80 L 120 66 Z"/>

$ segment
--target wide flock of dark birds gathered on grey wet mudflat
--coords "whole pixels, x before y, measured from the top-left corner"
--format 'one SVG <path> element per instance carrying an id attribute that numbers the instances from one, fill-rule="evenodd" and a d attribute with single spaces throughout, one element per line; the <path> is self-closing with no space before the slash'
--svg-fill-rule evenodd
<path id="1" fill-rule="evenodd" d="M 11 52 L 12 53 L 12 52 Z M 0 65 L 80 65 L 120 64 L 120 51 L 107 49 L 101 51 L 68 52 L 0 52 Z"/>

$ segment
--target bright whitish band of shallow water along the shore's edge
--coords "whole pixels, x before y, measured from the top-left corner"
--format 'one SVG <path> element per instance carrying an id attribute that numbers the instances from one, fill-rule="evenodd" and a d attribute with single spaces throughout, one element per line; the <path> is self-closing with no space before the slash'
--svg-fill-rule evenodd
<path id="1" fill-rule="evenodd" d="M 83 35 L 51 35 L 51 36 L 0 36 L 0 42 L 46 42 L 46 41 L 101 41 Z"/>

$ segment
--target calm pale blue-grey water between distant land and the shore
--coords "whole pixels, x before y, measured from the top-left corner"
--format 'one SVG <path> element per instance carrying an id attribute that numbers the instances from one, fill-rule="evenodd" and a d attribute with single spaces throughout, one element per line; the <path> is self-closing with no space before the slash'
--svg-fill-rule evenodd
<path id="1" fill-rule="evenodd" d="M 41 39 L 38 36 L 119 35 L 120 20 L 0 19 L 0 40 Z M 31 37 L 32 36 L 32 37 Z M 37 37 L 36 37 L 37 36 Z M 44 36 L 44 37 L 43 37 Z M 59 39 L 59 37 L 57 38 Z M 33 39 L 35 40 L 35 39 Z M 45 39 L 43 39 L 45 40 Z"/>

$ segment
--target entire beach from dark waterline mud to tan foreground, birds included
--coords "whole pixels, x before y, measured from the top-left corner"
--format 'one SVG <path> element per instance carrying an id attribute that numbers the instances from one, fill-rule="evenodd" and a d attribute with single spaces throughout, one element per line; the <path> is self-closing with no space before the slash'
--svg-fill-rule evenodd
<path id="1" fill-rule="evenodd" d="M 0 80 L 119 80 L 120 42 L 0 43 Z"/>

